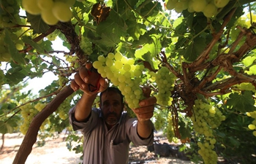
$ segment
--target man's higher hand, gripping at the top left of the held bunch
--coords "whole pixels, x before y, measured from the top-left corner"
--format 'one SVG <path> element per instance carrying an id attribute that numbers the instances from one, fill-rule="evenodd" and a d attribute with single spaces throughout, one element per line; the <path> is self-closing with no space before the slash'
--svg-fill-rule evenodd
<path id="1" fill-rule="evenodd" d="M 73 79 L 70 84 L 74 91 L 80 89 L 83 91 L 83 93 L 86 93 L 87 95 L 94 95 L 107 89 L 108 79 L 102 78 L 100 74 L 96 71 L 89 72 L 91 67 L 91 63 L 86 63 L 86 66 L 82 66 L 79 69 L 79 72 L 75 74 L 75 79 Z M 94 86 L 95 90 L 91 90 L 91 86 L 89 85 Z"/>

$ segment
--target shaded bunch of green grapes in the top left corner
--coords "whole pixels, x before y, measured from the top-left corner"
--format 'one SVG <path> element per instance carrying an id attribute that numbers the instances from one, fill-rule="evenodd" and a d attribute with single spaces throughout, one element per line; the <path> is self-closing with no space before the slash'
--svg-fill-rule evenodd
<path id="1" fill-rule="evenodd" d="M 20 1 L 0 0 L 0 28 L 8 28 L 21 23 Z M 17 28 L 12 28 L 16 31 Z"/>

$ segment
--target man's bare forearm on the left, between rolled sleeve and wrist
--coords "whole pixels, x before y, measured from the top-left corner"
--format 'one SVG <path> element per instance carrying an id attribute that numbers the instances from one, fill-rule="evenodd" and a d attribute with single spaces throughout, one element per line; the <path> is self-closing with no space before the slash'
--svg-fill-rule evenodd
<path id="1" fill-rule="evenodd" d="M 91 113 L 91 106 L 94 103 L 96 96 L 97 93 L 94 95 L 87 95 L 86 93 L 83 93 L 78 104 L 75 106 L 75 120 L 83 122 L 89 117 L 89 114 Z"/>

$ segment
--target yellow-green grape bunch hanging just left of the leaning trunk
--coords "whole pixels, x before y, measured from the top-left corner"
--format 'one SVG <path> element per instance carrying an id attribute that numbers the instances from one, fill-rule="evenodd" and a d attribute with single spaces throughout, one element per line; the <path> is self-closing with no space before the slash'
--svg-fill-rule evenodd
<path id="1" fill-rule="evenodd" d="M 34 118 L 34 116 L 38 113 L 37 109 L 34 108 L 32 104 L 25 104 L 20 106 L 21 116 L 23 117 L 23 123 L 20 125 L 20 132 L 24 135 L 29 130 L 29 125 Z"/>

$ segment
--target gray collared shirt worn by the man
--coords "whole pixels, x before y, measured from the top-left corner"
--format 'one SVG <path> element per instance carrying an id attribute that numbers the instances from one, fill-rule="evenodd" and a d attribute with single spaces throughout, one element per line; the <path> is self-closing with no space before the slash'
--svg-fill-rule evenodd
<path id="1" fill-rule="evenodd" d="M 141 139 L 137 133 L 137 119 L 123 112 L 119 122 L 108 130 L 100 109 L 92 109 L 87 122 L 75 121 L 75 107 L 69 111 L 69 122 L 74 130 L 83 133 L 83 164 L 128 163 L 129 143 L 135 146 L 151 145 L 154 140 L 154 125 L 149 138 Z"/>

